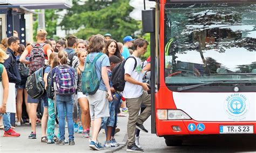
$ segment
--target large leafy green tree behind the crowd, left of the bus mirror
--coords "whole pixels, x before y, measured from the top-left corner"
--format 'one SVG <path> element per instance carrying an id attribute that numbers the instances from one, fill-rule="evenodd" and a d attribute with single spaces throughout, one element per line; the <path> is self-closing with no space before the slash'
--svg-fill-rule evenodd
<path id="1" fill-rule="evenodd" d="M 139 30 L 140 22 L 129 17 L 133 8 L 129 0 L 95 1 L 89 0 L 81 4 L 73 0 L 73 6 L 68 9 L 62 22 L 63 30 L 78 30 L 78 38 L 87 39 L 92 34 L 111 33 L 113 39 L 122 41 L 125 35 L 133 35 Z"/>

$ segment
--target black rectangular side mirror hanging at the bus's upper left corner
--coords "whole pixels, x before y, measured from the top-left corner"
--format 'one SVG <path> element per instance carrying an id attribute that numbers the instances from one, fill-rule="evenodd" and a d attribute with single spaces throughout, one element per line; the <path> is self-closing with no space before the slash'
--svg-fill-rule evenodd
<path id="1" fill-rule="evenodd" d="M 142 10 L 142 30 L 145 33 L 153 33 L 155 31 L 154 9 Z"/>

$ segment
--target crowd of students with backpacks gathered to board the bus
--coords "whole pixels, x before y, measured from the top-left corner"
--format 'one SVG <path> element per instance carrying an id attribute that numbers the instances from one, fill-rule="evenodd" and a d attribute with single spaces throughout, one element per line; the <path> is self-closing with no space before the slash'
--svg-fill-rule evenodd
<path id="1" fill-rule="evenodd" d="M 109 33 L 104 36 L 92 35 L 88 40 L 77 39 L 70 35 L 67 39 L 57 41 L 46 40 L 46 35 L 45 30 L 38 30 L 37 41 L 26 47 L 19 43 L 19 38 L 16 36 L 2 40 L 0 81 L 4 94 L 0 114 L 3 116 L 4 136 L 20 136 L 10 124 L 10 113 L 6 113 L 9 83 L 14 83 L 16 125 L 21 126 L 24 122 L 22 119 L 24 101 L 31 123 L 29 139 L 37 137 L 36 125 L 39 122 L 38 104 L 40 104 L 43 105 L 41 142 L 75 145 L 74 132 L 79 132 L 82 133 L 82 137 L 90 139 L 89 147 L 92 150 L 117 147 L 119 144 L 114 139 L 114 134 L 120 130 L 117 128 L 117 116 L 122 103 L 124 106 L 122 111 L 129 113 L 127 151 L 143 151 L 138 140 L 139 130 L 147 132 L 143 122 L 151 114 L 151 103 L 150 95 L 147 93 L 150 90 L 149 84 L 143 83 L 142 73 L 148 65 L 142 64 L 139 56 L 145 54 L 148 42 L 142 38 L 132 39 L 131 36 L 126 36 L 123 44 L 113 40 Z M 131 47 L 134 51 L 129 50 Z M 41 51 L 42 55 L 36 54 Z M 118 92 L 112 86 L 112 70 L 124 60 L 126 60 L 124 64 L 126 82 L 124 91 Z M 96 92 L 84 93 L 84 74 L 91 69 L 90 65 L 93 65 L 92 69 L 96 71 L 99 85 Z M 41 68 L 47 92 L 35 98 L 28 94 L 26 81 Z M 93 80 L 91 84 L 93 85 L 95 81 Z M 144 108 L 139 114 L 142 104 Z M 56 121 L 59 126 L 58 133 L 54 131 Z M 68 140 L 65 139 L 65 126 L 68 127 Z M 104 145 L 98 142 L 100 129 L 105 129 Z"/>

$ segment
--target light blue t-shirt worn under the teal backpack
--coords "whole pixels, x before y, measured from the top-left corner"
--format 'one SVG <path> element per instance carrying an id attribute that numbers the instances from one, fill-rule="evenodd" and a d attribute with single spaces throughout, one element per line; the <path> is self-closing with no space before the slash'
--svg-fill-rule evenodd
<path id="1" fill-rule="evenodd" d="M 89 55 L 87 55 L 87 56 L 89 56 L 90 62 L 92 62 L 98 54 L 99 53 L 93 52 L 93 53 L 90 53 Z M 96 61 L 95 65 L 96 65 L 96 73 L 100 80 L 99 89 L 107 91 L 106 85 L 104 84 L 104 82 L 102 80 L 102 67 L 110 67 L 109 57 L 106 54 L 103 54 Z"/>

